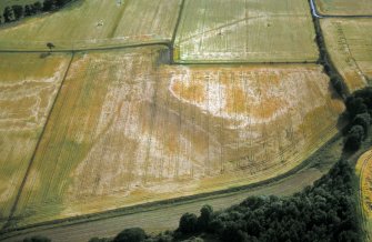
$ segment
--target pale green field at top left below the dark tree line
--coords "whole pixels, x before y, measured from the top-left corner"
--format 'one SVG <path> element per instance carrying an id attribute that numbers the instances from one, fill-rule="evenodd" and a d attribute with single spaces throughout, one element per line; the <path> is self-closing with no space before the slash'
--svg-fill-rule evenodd
<path id="1" fill-rule="evenodd" d="M 1 29 L 0 47 L 44 50 L 52 42 L 56 49 L 81 49 L 170 41 L 179 4 L 180 0 L 77 1 Z"/>

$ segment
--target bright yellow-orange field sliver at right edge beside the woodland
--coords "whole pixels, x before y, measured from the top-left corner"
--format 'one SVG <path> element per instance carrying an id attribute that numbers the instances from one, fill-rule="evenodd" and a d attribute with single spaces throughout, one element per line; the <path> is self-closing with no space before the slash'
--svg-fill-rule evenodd
<path id="1" fill-rule="evenodd" d="M 360 178 L 360 200 L 368 238 L 372 238 L 372 150 L 360 157 L 355 170 Z"/>

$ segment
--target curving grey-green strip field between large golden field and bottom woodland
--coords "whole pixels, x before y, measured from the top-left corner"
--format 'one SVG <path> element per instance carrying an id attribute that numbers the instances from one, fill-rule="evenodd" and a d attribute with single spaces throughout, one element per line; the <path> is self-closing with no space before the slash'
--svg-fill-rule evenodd
<path id="1" fill-rule="evenodd" d="M 314 167 L 313 162 L 309 162 L 299 172 L 286 177 L 279 182 L 260 185 L 258 188 L 242 189 L 239 191 L 224 192 L 222 194 L 208 195 L 198 199 L 190 199 L 184 201 L 171 202 L 165 204 L 155 204 L 144 208 L 128 208 L 124 210 L 110 213 L 108 218 L 105 213 L 95 216 L 94 221 L 78 222 L 72 224 L 63 224 L 62 226 L 44 228 L 42 234 L 52 239 L 53 242 L 66 241 L 88 241 L 93 236 L 114 236 L 123 228 L 140 226 L 148 233 L 159 233 L 167 230 L 174 230 L 181 215 L 185 212 L 198 214 L 200 208 L 205 203 L 213 206 L 213 209 L 222 210 L 233 204 L 242 202 L 250 195 L 268 195 L 273 194 L 278 196 L 289 196 L 295 192 L 300 192 L 306 185 L 320 179 L 328 173 L 329 169 L 334 164 L 338 155 L 342 151 L 342 139 L 336 142 L 328 144 L 325 149 L 316 151 L 313 158 L 316 162 L 319 155 L 329 159 L 322 159 L 322 165 Z M 330 162 L 329 162 L 330 161 Z M 114 214 L 114 215 L 112 215 Z M 21 241 L 24 235 L 31 236 L 40 234 L 39 231 L 29 231 L 19 236 L 12 236 L 7 242 Z"/>

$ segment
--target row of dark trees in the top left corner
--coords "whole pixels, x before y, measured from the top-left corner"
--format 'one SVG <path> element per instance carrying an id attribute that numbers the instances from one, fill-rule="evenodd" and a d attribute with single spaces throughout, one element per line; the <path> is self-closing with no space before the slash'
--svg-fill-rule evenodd
<path id="1" fill-rule="evenodd" d="M 0 24 L 18 21 L 22 18 L 36 16 L 41 12 L 56 11 L 72 0 L 44 0 L 31 4 L 7 6 L 0 16 Z"/>

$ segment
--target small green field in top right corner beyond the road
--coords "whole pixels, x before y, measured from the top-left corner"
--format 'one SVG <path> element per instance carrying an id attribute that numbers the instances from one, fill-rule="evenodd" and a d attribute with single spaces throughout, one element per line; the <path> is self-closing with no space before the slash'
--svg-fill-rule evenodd
<path id="1" fill-rule="evenodd" d="M 372 14 L 371 0 L 315 0 L 318 11 L 328 16 Z"/>

